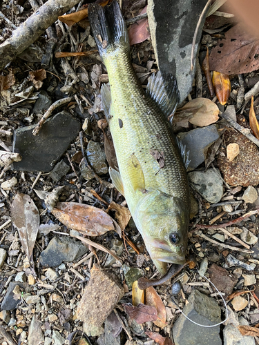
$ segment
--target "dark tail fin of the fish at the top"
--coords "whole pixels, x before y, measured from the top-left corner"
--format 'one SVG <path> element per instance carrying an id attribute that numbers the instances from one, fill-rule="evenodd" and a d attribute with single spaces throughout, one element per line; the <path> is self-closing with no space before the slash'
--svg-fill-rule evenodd
<path id="1" fill-rule="evenodd" d="M 90 3 L 88 17 L 101 57 L 115 50 L 119 44 L 129 47 L 126 24 L 116 0 L 105 7 Z"/>

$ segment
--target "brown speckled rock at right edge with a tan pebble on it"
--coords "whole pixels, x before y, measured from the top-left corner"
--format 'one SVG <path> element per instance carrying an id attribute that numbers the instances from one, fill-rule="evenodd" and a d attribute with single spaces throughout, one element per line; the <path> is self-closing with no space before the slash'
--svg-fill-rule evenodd
<path id="1" fill-rule="evenodd" d="M 240 153 L 233 161 L 229 161 L 226 147 L 233 143 L 239 145 Z M 259 184 L 259 149 L 256 144 L 229 128 L 224 132 L 222 152 L 225 156 L 218 155 L 218 167 L 229 186 L 247 187 Z"/>

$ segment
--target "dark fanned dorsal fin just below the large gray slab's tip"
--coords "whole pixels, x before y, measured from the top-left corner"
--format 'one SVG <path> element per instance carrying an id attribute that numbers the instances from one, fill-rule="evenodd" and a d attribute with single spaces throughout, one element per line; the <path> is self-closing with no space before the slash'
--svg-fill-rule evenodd
<path id="1" fill-rule="evenodd" d="M 179 101 L 177 81 L 173 75 L 158 71 L 148 80 L 146 92 L 157 103 L 166 119 L 175 112 Z M 173 117 L 170 118 L 170 122 Z"/>

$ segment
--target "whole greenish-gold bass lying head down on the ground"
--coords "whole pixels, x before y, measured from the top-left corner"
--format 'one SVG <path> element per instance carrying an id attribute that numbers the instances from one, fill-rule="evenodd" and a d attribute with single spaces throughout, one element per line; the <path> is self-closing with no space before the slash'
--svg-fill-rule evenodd
<path id="1" fill-rule="evenodd" d="M 181 155 L 184 149 L 168 121 L 178 105 L 177 81 L 159 71 L 144 91 L 133 70 L 117 1 L 104 7 L 91 3 L 88 18 L 110 84 L 101 89 L 119 168 L 110 167 L 110 176 L 126 199 L 153 264 L 165 274 L 167 264 L 186 261 L 190 213 L 186 154 Z"/>

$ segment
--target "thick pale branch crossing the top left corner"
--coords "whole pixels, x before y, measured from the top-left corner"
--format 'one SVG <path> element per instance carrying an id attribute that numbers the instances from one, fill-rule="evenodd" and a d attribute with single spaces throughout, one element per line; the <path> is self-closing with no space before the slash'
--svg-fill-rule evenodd
<path id="1" fill-rule="evenodd" d="M 77 3 L 79 0 L 48 0 L 44 3 L 0 45 L 0 70 L 35 42 L 57 20 L 57 17 Z"/>

